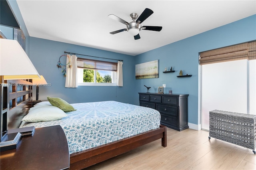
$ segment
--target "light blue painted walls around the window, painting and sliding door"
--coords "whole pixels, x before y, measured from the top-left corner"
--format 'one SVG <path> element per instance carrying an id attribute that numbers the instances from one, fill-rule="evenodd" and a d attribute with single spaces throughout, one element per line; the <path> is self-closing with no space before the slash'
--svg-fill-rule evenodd
<path id="1" fill-rule="evenodd" d="M 29 37 L 17 2 L 9 2 L 26 36 L 26 53 L 29 54 L 38 73 L 44 75 L 46 81 L 52 84 L 49 87 L 40 87 L 40 99 L 46 99 L 46 96 L 49 95 L 52 97 L 61 97 L 69 103 L 115 100 L 139 105 L 138 92 L 146 92 L 144 85 L 150 86 L 150 92 L 155 93 L 157 92 L 158 86 L 166 84 L 164 93 L 172 90 L 173 93 L 189 94 L 188 122 L 195 125 L 200 124 L 200 113 L 198 109 L 200 66 L 198 64 L 198 53 L 256 40 L 256 15 L 253 15 L 134 57 L 100 49 Z M 58 59 L 60 55 L 64 54 L 64 51 L 124 60 L 124 87 L 79 86 L 76 89 L 65 88 L 65 78 L 62 77 L 61 71 L 56 67 Z M 159 78 L 135 79 L 136 64 L 156 59 L 159 61 Z M 165 67 L 170 69 L 171 66 L 176 71 L 175 73 L 162 73 Z M 180 70 L 185 75 L 191 74 L 192 77 L 177 78 L 176 76 Z"/>

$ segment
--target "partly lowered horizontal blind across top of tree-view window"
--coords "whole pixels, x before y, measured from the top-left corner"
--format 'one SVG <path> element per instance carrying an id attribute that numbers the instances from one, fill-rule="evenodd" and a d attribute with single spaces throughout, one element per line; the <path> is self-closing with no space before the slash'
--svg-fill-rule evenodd
<path id="1" fill-rule="evenodd" d="M 93 59 L 77 58 L 77 67 L 83 69 L 96 69 L 106 71 L 117 71 L 117 63 Z"/>

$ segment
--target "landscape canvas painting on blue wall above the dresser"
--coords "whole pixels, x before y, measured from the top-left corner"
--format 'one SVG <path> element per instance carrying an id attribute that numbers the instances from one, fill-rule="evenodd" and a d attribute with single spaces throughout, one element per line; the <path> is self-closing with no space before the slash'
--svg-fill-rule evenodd
<path id="1" fill-rule="evenodd" d="M 135 65 L 136 79 L 158 78 L 158 60 Z"/>

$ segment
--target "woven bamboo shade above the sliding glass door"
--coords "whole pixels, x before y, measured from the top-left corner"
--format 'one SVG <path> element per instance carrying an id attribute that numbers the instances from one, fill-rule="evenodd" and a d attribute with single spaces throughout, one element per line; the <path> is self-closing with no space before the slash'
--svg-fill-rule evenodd
<path id="1" fill-rule="evenodd" d="M 240 59 L 256 59 L 256 41 L 201 52 L 199 63 L 204 65 Z"/>

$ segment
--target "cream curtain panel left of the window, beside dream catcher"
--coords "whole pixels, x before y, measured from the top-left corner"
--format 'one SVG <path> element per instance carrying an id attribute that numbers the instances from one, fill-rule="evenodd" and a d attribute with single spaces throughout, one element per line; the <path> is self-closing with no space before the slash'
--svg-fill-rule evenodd
<path id="1" fill-rule="evenodd" d="M 66 62 L 66 82 L 65 87 L 76 88 L 77 87 L 77 63 L 76 63 L 76 55 L 67 55 Z M 70 62 L 70 64 L 68 64 Z M 69 67 L 71 65 L 71 67 Z"/>

